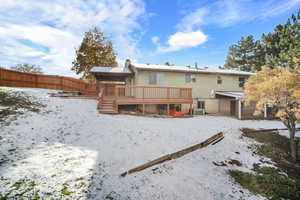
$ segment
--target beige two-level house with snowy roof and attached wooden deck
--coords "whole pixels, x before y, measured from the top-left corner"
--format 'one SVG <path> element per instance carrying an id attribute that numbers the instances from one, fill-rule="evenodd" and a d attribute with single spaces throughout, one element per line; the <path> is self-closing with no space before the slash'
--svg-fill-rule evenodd
<path id="1" fill-rule="evenodd" d="M 189 66 L 136 64 L 93 67 L 101 94 L 100 112 L 118 113 L 121 105 L 136 105 L 142 113 L 180 109 L 184 113 L 252 116 L 245 106 L 243 86 L 253 73 Z M 163 109 L 165 108 L 165 109 Z"/>

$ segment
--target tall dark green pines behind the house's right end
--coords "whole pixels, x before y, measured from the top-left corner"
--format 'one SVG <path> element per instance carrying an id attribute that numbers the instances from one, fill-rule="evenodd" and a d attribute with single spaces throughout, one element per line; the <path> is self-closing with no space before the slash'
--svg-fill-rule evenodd
<path id="1" fill-rule="evenodd" d="M 264 65 L 293 67 L 293 58 L 300 58 L 300 10 L 274 32 L 263 34 L 261 40 L 254 41 L 250 35 L 230 46 L 224 66 L 255 72 Z"/>

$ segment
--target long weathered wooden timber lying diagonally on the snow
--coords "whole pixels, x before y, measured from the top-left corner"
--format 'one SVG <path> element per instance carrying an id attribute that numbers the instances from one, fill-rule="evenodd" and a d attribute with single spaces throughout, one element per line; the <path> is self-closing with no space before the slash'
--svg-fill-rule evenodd
<path id="1" fill-rule="evenodd" d="M 216 134 L 216 135 L 214 135 L 214 136 L 208 138 L 208 139 L 205 140 L 204 142 L 201 142 L 201 143 L 196 144 L 196 145 L 193 145 L 193 146 L 191 146 L 191 147 L 182 149 L 182 150 L 177 151 L 177 152 L 175 152 L 175 153 L 167 154 L 167 155 L 165 155 L 165 156 L 162 156 L 162 157 L 160 157 L 160 158 L 157 158 L 157 159 L 155 159 L 155 160 L 152 160 L 152 161 L 150 161 L 150 162 L 147 162 L 147 163 L 145 163 L 145 164 L 143 164 L 143 165 L 140 165 L 140 166 L 138 166 L 138 167 L 135 167 L 135 168 L 133 168 L 133 169 L 130 169 L 130 170 L 126 171 L 126 172 L 123 172 L 123 173 L 121 174 L 121 176 L 124 177 L 124 176 L 126 176 L 126 175 L 128 175 L 128 174 L 132 174 L 132 173 L 134 173 L 134 172 L 138 172 L 138 171 L 144 170 L 144 169 L 146 169 L 146 168 L 152 167 L 152 166 L 154 166 L 154 165 L 158 165 L 158 164 L 163 163 L 163 162 L 165 162 L 165 161 L 168 161 L 168 160 L 172 160 L 172 159 L 176 159 L 176 158 L 182 157 L 182 156 L 184 156 L 184 155 L 186 155 L 186 154 L 188 154 L 188 153 L 191 153 L 191 152 L 193 152 L 193 151 L 195 151 L 195 150 L 198 150 L 198 149 L 201 149 L 201 148 L 203 148 L 203 147 L 206 147 L 206 146 L 210 145 L 211 143 L 214 143 L 214 142 L 217 141 L 217 140 L 220 141 L 220 139 L 223 139 L 223 138 L 224 138 L 224 134 L 223 134 L 223 132 L 220 132 L 220 133 L 218 133 L 218 134 Z"/>

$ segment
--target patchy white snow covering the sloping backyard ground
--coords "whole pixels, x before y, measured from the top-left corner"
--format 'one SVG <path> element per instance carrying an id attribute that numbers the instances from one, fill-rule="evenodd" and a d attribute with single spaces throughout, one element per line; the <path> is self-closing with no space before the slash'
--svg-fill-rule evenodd
<path id="1" fill-rule="evenodd" d="M 263 199 L 234 183 L 227 170 L 250 171 L 260 159 L 248 148 L 254 141 L 241 138 L 240 128 L 282 128 L 278 121 L 103 115 L 94 100 L 53 98 L 47 94 L 53 91 L 44 89 L 18 90 L 47 107 L 20 115 L 9 125 L 0 124 L 0 155 L 8 160 L 0 164 L 0 193 L 8 190 L 9 182 L 27 177 L 37 182 L 45 198 Z M 120 177 L 220 131 L 225 138 L 216 145 Z M 212 163 L 228 159 L 243 166 Z"/>

